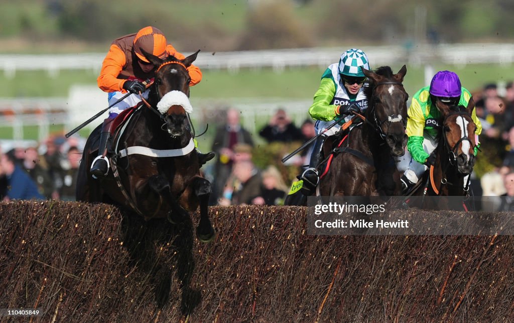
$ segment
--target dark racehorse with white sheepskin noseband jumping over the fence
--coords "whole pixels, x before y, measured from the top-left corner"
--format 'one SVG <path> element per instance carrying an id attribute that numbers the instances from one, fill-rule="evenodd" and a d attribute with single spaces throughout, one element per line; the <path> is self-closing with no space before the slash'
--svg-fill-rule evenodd
<path id="1" fill-rule="evenodd" d="M 79 168 L 77 200 L 112 203 L 145 220 L 168 218 L 174 223 L 199 206 L 196 235 L 208 242 L 214 238 L 208 217 L 211 184 L 200 175 L 186 114 L 192 112 L 187 67 L 198 51 L 183 60 L 143 54 L 156 67 L 149 106 L 139 104 L 114 134 L 112 171 L 102 179 L 89 173 L 101 126 L 91 133 Z"/>

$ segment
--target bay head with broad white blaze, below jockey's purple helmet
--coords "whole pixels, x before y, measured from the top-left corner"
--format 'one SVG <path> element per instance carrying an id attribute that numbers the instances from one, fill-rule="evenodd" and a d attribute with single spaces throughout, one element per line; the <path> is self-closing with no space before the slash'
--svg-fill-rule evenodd
<path id="1" fill-rule="evenodd" d="M 451 165 L 458 172 L 468 175 L 475 165 L 474 148 L 476 124 L 471 118 L 475 103 L 469 100 L 468 106 L 447 105 L 437 100 L 437 109 L 443 115 L 443 139 Z"/>

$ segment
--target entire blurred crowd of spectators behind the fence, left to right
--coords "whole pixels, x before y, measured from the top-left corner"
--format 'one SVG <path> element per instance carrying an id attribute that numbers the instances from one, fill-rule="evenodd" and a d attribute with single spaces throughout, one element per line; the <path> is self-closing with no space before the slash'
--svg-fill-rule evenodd
<path id="1" fill-rule="evenodd" d="M 500 209 L 514 210 L 514 86 L 509 82 L 499 91 L 496 84 L 485 84 L 473 93 L 473 99 L 484 129 L 473 193 L 506 196 Z M 279 108 L 254 135 L 241 123 L 240 111 L 228 109 L 224 113 L 224 122 L 218 125 L 212 141 L 216 158 L 203 168 L 213 184 L 210 205 L 282 205 L 291 180 L 284 167 L 301 173 L 310 158 L 309 147 L 289 159 L 286 166 L 280 163 L 281 155 L 264 167 L 262 163 L 261 167 L 256 165 L 255 149 L 261 146 L 265 151 L 273 143 L 292 143 L 291 152 L 316 135 L 313 120 L 306 113 L 305 121 L 297 125 Z M 256 145 L 256 141 L 265 144 Z M 74 137 L 56 136 L 37 145 L 2 151 L 0 196 L 3 200 L 74 201 L 82 148 L 83 142 Z M 479 175 L 477 168 L 481 168 Z"/>

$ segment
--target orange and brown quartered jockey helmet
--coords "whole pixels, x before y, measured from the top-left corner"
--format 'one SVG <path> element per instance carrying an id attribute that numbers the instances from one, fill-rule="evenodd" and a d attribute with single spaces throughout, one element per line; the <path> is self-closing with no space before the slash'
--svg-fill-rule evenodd
<path id="1" fill-rule="evenodd" d="M 134 51 L 137 57 L 146 63 L 150 62 L 144 57 L 141 49 L 163 59 L 168 56 L 166 45 L 166 37 L 164 37 L 162 31 L 152 26 L 139 30 L 134 39 Z"/>

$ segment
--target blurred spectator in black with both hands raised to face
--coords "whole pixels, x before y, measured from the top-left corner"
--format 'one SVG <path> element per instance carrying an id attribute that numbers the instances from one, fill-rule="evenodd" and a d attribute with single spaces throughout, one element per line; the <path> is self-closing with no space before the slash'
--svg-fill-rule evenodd
<path id="1" fill-rule="evenodd" d="M 277 110 L 266 127 L 259 132 L 259 135 L 266 139 L 268 143 L 274 141 L 302 141 L 303 139 L 302 132 L 292 123 L 283 109 Z"/>

